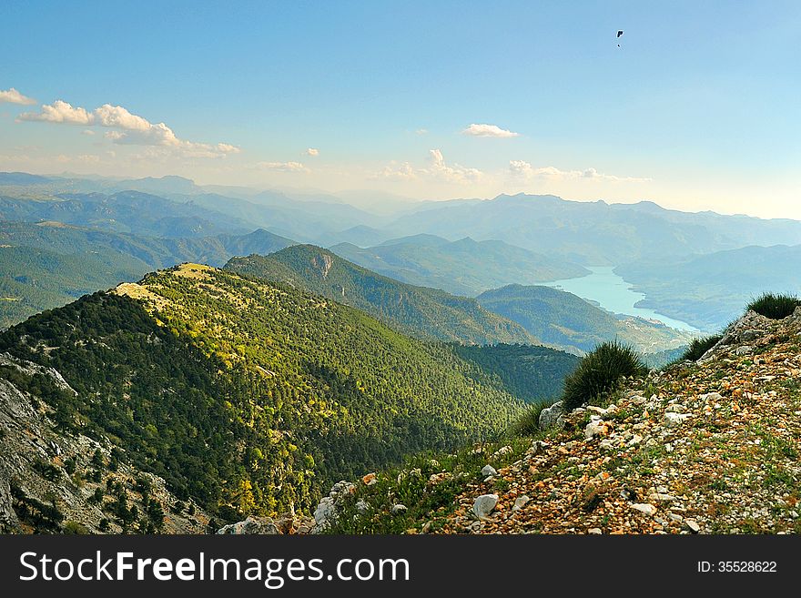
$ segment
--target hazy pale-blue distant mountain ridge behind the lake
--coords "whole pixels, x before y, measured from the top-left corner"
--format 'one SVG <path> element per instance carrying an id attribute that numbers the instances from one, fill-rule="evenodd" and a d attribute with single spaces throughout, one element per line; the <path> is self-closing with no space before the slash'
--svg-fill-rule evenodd
<path id="1" fill-rule="evenodd" d="M 445 238 L 502 239 L 591 266 L 752 244 L 801 243 L 797 220 L 692 214 L 653 202 L 607 204 L 525 194 L 446 202 L 397 218 L 389 228 Z"/>

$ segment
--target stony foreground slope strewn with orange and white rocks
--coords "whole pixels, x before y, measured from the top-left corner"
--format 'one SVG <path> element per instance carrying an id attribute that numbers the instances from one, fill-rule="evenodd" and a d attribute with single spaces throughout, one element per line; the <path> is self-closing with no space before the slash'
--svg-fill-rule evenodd
<path id="1" fill-rule="evenodd" d="M 540 422 L 555 427 L 477 446 L 468 471 L 431 461 L 357 482 L 352 501 L 374 505 L 363 529 L 395 517 L 411 533 L 801 532 L 801 308 L 784 320 L 749 312 L 697 363 Z M 397 502 L 411 475 L 410 512 L 455 490 L 407 517 Z M 330 509 L 319 519 L 328 525 Z"/>

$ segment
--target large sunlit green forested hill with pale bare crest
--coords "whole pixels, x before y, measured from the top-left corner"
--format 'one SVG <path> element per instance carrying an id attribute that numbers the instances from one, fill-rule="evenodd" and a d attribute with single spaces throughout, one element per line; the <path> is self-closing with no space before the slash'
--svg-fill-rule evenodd
<path id="1" fill-rule="evenodd" d="M 330 481 L 503 430 L 521 401 L 448 345 L 356 309 L 183 265 L 0 334 L 77 395 L 16 375 L 63 430 L 218 516 L 308 508 Z M 4 376 L 8 372 L 3 372 Z"/>

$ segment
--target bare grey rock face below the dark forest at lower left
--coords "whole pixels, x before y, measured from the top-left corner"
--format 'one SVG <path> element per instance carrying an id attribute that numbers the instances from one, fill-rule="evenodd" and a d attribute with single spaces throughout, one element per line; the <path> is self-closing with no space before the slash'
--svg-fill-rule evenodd
<path id="1" fill-rule="evenodd" d="M 0 365 L 25 376 L 45 375 L 59 389 L 75 393 L 52 368 L 7 353 L 0 354 Z M 125 462 L 115 471 L 96 466 L 95 454 L 107 463 L 113 444 L 56 429 L 52 413 L 45 400 L 0 378 L 0 532 L 122 532 L 116 517 L 103 509 L 113 501 L 106 482 L 125 489 L 128 504 L 142 513 L 146 509 L 134 488 L 137 479 L 147 481 L 147 501 L 157 502 L 164 512 L 155 531 L 206 532 L 208 516 L 197 504 L 179 502 L 163 479 Z"/>

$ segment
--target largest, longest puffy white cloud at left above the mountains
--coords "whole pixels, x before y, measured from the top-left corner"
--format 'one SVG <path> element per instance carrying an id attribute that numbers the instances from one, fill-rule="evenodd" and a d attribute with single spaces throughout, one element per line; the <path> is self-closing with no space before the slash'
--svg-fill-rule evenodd
<path id="1" fill-rule="evenodd" d="M 73 107 L 62 100 L 42 106 L 41 112 L 25 112 L 17 120 L 38 120 L 49 123 L 72 125 L 96 125 L 113 130 L 106 132 L 106 139 L 119 145 L 167 147 L 183 157 L 226 157 L 238 154 L 240 149 L 228 143 L 198 143 L 176 136 L 164 123 L 152 124 L 147 118 L 132 114 L 123 106 L 104 104 L 88 112 L 82 107 Z M 84 131 L 94 135 L 94 131 Z"/>

